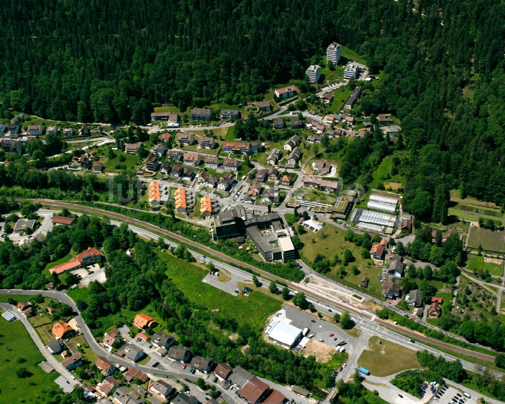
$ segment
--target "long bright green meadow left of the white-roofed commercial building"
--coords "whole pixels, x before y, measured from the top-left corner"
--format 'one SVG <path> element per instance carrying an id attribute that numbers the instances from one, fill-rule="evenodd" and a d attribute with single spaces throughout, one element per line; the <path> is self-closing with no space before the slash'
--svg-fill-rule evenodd
<path id="1" fill-rule="evenodd" d="M 257 328 L 263 328 L 264 322 L 282 303 L 263 292 L 251 293 L 248 297 L 233 296 L 220 289 L 201 282 L 207 270 L 194 264 L 175 258 L 169 253 L 159 255 L 167 262 L 167 276 L 173 280 L 189 299 L 219 310 L 223 316 L 234 318 L 237 322 L 247 322 Z"/>

